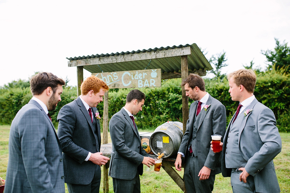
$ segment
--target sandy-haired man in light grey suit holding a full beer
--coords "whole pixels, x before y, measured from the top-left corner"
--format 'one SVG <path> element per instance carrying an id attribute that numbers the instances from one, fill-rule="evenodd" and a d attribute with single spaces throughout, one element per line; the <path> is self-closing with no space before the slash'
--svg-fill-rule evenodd
<path id="1" fill-rule="evenodd" d="M 243 69 L 227 78 L 230 96 L 240 104 L 224 136 L 222 175 L 230 177 L 234 193 L 280 192 L 273 159 L 282 141 L 274 113 L 253 94 L 256 74 Z"/>

